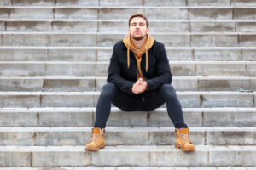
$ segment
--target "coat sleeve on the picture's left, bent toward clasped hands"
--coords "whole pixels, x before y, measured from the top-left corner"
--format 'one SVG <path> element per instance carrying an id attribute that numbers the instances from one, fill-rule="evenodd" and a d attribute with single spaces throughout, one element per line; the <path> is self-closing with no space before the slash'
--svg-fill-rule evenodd
<path id="1" fill-rule="evenodd" d="M 110 63 L 108 66 L 108 83 L 113 83 L 119 88 L 121 91 L 127 93 L 127 94 L 133 94 L 131 92 L 131 88 L 133 86 L 133 82 L 125 80 L 123 77 L 120 75 L 120 63 L 118 56 L 116 54 L 116 47 L 113 47 L 113 54 L 110 59 Z"/>

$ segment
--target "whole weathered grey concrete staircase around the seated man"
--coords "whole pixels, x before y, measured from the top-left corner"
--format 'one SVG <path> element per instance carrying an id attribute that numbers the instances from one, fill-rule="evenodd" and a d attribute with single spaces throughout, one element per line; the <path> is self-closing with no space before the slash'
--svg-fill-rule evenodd
<path id="1" fill-rule="evenodd" d="M 193 153 L 165 105 L 113 107 L 106 149 L 84 150 L 134 13 L 166 44 Z M 255 19 L 254 0 L 1 0 L 0 169 L 255 170 Z"/>

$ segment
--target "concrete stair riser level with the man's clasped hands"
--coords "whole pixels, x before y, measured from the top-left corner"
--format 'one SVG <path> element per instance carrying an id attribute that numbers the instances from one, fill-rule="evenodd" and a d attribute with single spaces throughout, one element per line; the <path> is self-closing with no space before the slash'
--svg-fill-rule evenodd
<path id="1" fill-rule="evenodd" d="M 101 91 L 106 78 L 102 79 L 1 79 L 0 89 L 5 92 L 82 92 Z M 176 79 L 172 86 L 177 91 L 236 91 L 239 88 L 256 90 L 256 80 L 200 80 Z"/>

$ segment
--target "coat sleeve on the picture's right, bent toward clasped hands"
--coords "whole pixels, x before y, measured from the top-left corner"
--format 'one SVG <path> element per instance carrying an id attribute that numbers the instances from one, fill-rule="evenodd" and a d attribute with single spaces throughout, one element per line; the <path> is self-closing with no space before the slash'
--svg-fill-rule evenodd
<path id="1" fill-rule="evenodd" d="M 165 46 L 162 44 L 158 48 L 156 57 L 156 75 L 152 79 L 146 80 L 148 83 L 148 90 L 154 90 L 160 88 L 162 84 L 172 83 L 172 73 L 169 65 L 169 60 L 167 58 Z"/>

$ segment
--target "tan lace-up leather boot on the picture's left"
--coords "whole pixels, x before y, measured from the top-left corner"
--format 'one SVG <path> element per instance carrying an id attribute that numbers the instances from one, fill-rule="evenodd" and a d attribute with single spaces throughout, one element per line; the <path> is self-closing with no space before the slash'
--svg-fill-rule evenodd
<path id="1" fill-rule="evenodd" d="M 85 146 L 85 150 L 91 150 L 91 151 L 97 151 L 105 148 L 105 143 L 104 143 L 104 135 L 105 129 L 104 128 L 99 128 L 95 127 L 92 128 L 92 133 L 90 137 L 90 141 L 88 144 Z"/>

